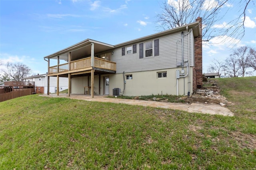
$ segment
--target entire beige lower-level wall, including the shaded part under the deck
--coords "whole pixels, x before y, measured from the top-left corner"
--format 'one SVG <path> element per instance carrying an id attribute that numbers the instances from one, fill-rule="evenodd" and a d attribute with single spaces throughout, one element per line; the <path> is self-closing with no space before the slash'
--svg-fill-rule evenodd
<path id="1" fill-rule="evenodd" d="M 109 95 L 113 95 L 113 88 L 120 88 L 120 95 L 126 96 L 140 96 L 140 95 L 176 95 L 177 94 L 177 79 L 176 70 L 162 69 L 155 71 L 142 71 L 123 74 L 104 74 L 95 75 L 94 77 L 94 94 L 105 94 L 105 77 L 109 77 Z M 186 68 L 185 75 L 186 75 Z M 167 77 L 158 78 L 158 72 L 167 72 Z M 126 79 L 126 75 L 132 75 L 132 79 Z M 88 82 L 89 80 L 89 82 Z M 100 81 L 99 81 L 100 80 Z M 124 89 L 124 80 L 125 89 Z M 192 68 L 190 68 L 190 93 L 192 93 Z M 73 77 L 71 80 L 71 93 L 83 94 L 84 86 L 91 85 L 91 77 Z M 100 87 L 100 88 L 99 88 Z M 99 93 L 100 89 L 100 93 Z M 91 91 L 90 91 L 91 94 Z M 178 79 L 178 95 L 188 94 L 188 76 Z"/>

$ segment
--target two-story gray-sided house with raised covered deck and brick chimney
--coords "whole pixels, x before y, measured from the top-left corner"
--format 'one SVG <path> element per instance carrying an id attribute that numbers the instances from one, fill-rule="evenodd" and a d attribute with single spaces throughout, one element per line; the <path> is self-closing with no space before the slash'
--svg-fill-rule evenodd
<path id="1" fill-rule="evenodd" d="M 190 95 L 202 86 L 201 31 L 198 17 L 194 23 L 117 45 L 87 39 L 44 57 L 48 80 L 68 77 L 68 96 Z M 53 61 L 56 65 L 50 66 Z"/>

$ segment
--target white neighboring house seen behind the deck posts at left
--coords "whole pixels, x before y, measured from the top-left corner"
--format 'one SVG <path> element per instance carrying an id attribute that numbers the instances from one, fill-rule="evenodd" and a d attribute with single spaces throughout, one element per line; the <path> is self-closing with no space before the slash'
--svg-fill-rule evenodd
<path id="1" fill-rule="evenodd" d="M 37 74 L 30 77 L 24 77 L 22 78 L 22 81 L 26 82 L 34 82 L 35 85 L 35 91 L 36 94 L 46 94 L 48 91 L 48 79 L 47 74 Z M 57 86 L 57 78 L 56 77 L 50 77 L 50 84 L 49 84 L 49 93 L 56 93 L 57 88 L 59 91 L 63 91 L 68 89 L 68 78 L 66 77 L 60 77 L 59 79 L 59 85 Z"/>

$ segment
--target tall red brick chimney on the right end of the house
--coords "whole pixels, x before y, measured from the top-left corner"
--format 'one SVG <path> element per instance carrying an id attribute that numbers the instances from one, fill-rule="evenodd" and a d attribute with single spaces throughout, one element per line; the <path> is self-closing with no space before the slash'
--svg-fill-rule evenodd
<path id="1" fill-rule="evenodd" d="M 203 85 L 203 73 L 202 73 L 202 18 L 196 18 L 196 22 L 199 22 L 200 36 L 195 38 L 195 67 L 193 69 L 193 91 L 201 89 Z"/>

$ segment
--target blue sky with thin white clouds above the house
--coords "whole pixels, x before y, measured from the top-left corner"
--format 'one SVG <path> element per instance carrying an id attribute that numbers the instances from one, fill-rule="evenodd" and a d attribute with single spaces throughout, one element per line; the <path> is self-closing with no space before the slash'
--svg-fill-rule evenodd
<path id="1" fill-rule="evenodd" d="M 20 62 L 32 74 L 47 72 L 43 57 L 87 38 L 116 45 L 155 34 L 156 15 L 162 12 L 161 0 L 0 0 L 0 59 Z M 234 0 L 219 27 L 236 18 L 239 6 Z M 225 11 L 225 8 L 222 9 Z M 245 36 L 236 47 L 256 47 L 256 8 L 246 11 Z M 203 72 L 215 58 L 223 60 L 232 51 L 230 41 L 203 45 Z M 254 75 L 256 75 L 254 71 Z"/>

